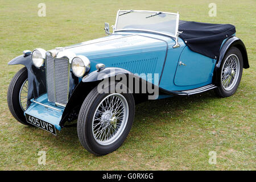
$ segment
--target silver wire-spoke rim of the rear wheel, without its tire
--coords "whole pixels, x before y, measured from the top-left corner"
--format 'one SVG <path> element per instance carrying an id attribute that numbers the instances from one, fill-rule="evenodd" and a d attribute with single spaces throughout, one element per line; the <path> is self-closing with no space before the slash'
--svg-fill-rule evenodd
<path id="1" fill-rule="evenodd" d="M 221 84 L 225 90 L 232 90 L 240 73 L 240 63 L 237 55 L 229 55 L 221 70 Z"/>

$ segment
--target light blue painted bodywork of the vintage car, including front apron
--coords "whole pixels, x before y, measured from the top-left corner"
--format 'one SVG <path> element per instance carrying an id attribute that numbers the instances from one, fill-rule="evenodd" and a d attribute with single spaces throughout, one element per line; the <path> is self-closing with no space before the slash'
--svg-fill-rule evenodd
<path id="1" fill-rule="evenodd" d="M 117 32 L 104 38 L 65 47 L 65 50 L 88 57 L 88 75 L 96 71 L 96 64 L 102 63 L 106 68 L 123 68 L 138 75 L 156 73 L 158 79 L 153 77 L 147 81 L 165 90 L 190 90 L 211 84 L 216 59 L 191 51 L 180 38 L 180 47 L 173 48 L 174 44 L 173 38 L 164 35 Z M 185 65 L 180 65 L 180 61 Z M 163 95 L 158 99 L 165 97 L 170 96 Z M 64 108 L 48 102 L 47 93 L 36 98 L 36 101 L 60 111 L 31 102 L 24 114 L 52 123 L 60 130 Z"/>

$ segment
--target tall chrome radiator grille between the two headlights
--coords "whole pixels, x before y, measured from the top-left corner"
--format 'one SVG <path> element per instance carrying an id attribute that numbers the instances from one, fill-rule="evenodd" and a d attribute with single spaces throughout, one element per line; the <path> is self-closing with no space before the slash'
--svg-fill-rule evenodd
<path id="1" fill-rule="evenodd" d="M 68 59 L 46 56 L 46 82 L 48 101 L 66 105 L 69 94 Z"/>

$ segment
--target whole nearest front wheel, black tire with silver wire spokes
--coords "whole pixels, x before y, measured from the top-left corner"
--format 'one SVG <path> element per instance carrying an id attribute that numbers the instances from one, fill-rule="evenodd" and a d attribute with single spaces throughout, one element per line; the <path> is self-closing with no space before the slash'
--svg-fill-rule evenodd
<path id="1" fill-rule="evenodd" d="M 98 93 L 85 98 L 77 119 L 77 134 L 86 150 L 106 155 L 122 145 L 134 120 L 132 94 Z"/>

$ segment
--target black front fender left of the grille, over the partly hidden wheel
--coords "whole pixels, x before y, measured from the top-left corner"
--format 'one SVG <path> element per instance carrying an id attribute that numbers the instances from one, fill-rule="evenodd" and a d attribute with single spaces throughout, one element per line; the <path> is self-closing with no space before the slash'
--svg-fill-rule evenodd
<path id="1" fill-rule="evenodd" d="M 32 98 L 38 98 L 46 93 L 46 69 L 45 67 L 36 68 L 32 62 L 32 56 L 20 55 L 11 60 L 8 65 L 22 64 L 27 68 L 28 76 L 28 96 L 27 106 L 30 105 Z"/>

